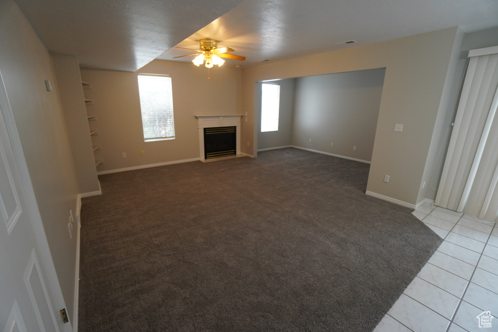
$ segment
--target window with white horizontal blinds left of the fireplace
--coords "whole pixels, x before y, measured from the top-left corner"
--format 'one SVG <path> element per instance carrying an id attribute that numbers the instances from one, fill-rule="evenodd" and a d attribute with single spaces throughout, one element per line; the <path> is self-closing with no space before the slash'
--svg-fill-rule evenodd
<path id="1" fill-rule="evenodd" d="M 143 139 L 174 139 L 171 77 L 138 74 L 138 93 L 142 112 Z"/>

